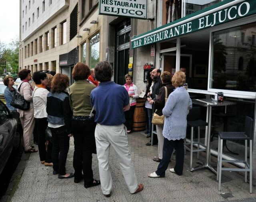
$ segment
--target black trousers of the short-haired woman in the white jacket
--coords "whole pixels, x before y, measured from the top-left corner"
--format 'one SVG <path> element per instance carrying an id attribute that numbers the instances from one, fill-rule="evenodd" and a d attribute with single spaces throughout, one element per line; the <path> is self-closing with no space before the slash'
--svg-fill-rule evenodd
<path id="1" fill-rule="evenodd" d="M 49 141 L 46 151 L 45 146 L 45 131 L 48 125 L 47 118 L 35 118 L 36 120 L 36 130 L 38 134 L 38 150 L 40 161 L 45 161 L 47 163 L 52 163 L 52 143 Z"/>

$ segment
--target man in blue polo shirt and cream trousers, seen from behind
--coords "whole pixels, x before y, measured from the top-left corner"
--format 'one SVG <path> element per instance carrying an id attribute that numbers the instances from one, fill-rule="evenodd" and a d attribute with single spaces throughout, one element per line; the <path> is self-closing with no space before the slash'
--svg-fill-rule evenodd
<path id="1" fill-rule="evenodd" d="M 95 67 L 95 78 L 100 82 L 91 92 L 91 104 L 96 115 L 95 140 L 100 171 L 101 189 L 110 197 L 112 177 L 108 168 L 110 145 L 114 148 L 120 169 L 130 193 L 143 189 L 138 184 L 128 147 L 127 129 L 124 126 L 124 111 L 130 109 L 129 96 L 123 86 L 111 81 L 112 67 L 104 61 Z"/>

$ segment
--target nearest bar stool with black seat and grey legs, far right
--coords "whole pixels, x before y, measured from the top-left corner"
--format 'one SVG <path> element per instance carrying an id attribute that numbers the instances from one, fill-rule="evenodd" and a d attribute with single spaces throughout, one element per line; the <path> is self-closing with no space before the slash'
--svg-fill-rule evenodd
<path id="1" fill-rule="evenodd" d="M 252 131 L 253 120 L 246 116 L 244 132 L 220 132 L 218 139 L 218 165 L 217 165 L 217 181 L 219 181 L 218 190 L 221 190 L 221 174 L 222 171 L 244 171 L 244 181 L 247 182 L 247 172 L 250 173 L 250 193 L 252 193 Z M 223 141 L 228 139 L 245 141 L 245 158 L 244 160 L 222 160 Z M 247 140 L 250 140 L 250 164 L 247 162 Z M 222 168 L 222 162 L 228 163 L 244 163 L 244 169 L 239 168 Z"/>

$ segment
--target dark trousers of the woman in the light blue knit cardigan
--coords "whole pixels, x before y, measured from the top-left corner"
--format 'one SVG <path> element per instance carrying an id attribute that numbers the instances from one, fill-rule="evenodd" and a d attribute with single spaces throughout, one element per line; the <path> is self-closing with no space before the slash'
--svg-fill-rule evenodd
<path id="1" fill-rule="evenodd" d="M 163 159 L 160 161 L 156 171 L 156 174 L 160 177 L 165 176 L 165 171 L 168 168 L 174 148 L 176 151 L 176 163 L 174 171 L 177 173 L 177 175 L 182 175 L 184 165 L 184 140 L 168 140 L 164 138 Z"/>

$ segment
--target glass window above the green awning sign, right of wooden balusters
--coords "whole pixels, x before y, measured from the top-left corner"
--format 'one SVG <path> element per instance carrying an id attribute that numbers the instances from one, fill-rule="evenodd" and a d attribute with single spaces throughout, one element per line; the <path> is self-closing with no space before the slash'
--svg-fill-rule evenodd
<path id="1" fill-rule="evenodd" d="M 184 16 L 187 16 L 222 1 L 223 0 L 186 0 Z"/>

